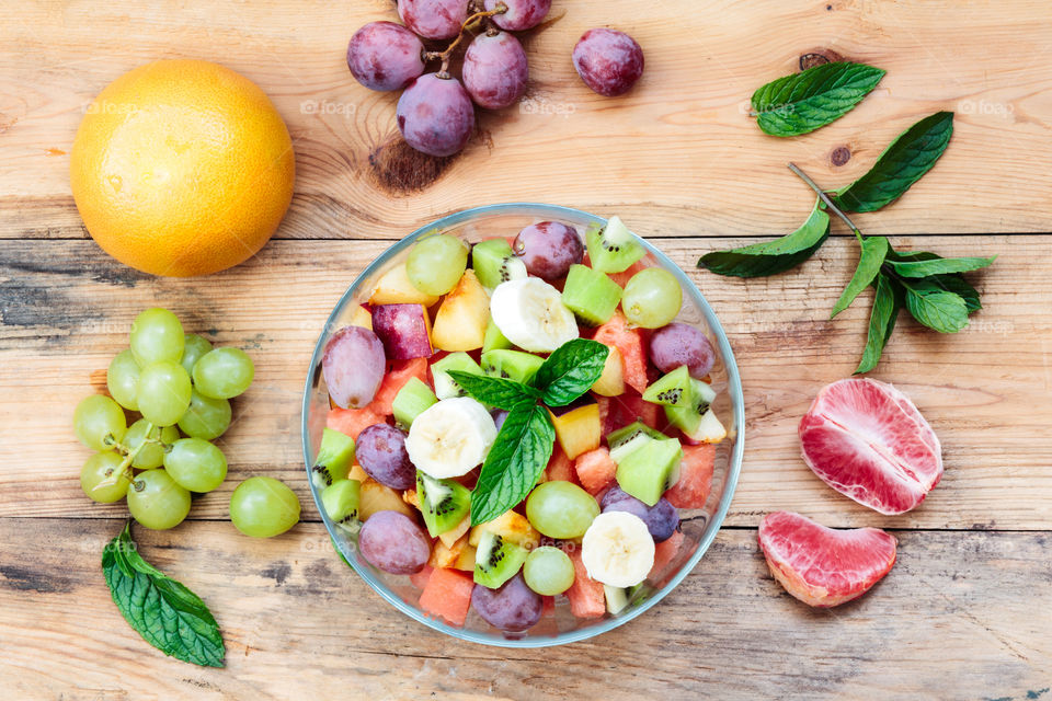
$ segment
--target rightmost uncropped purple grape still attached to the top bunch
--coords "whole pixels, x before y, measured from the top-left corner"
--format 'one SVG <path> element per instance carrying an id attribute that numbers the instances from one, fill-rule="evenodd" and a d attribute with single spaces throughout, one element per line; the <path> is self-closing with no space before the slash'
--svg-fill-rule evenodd
<path id="1" fill-rule="evenodd" d="M 492 31 L 492 30 L 491 30 Z M 507 32 L 479 34 L 464 55 L 464 87 L 480 107 L 503 110 L 526 92 L 526 51 Z"/>

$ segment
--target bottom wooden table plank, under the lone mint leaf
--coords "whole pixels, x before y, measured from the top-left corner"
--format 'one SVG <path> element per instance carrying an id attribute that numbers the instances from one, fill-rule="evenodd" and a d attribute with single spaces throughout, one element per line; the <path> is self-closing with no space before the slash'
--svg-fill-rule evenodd
<path id="1" fill-rule="evenodd" d="M 144 556 L 220 623 L 227 668 L 203 669 L 149 647 L 110 600 L 99 558 L 121 527 L 0 519 L 5 696 L 1021 699 L 1052 668 L 1040 613 L 1052 605 L 1049 533 L 897 532 L 900 560 L 880 585 L 816 611 L 771 579 L 754 531 L 725 530 L 640 619 L 585 643 L 506 651 L 396 611 L 319 525 L 271 540 L 217 522 L 137 529 Z"/>

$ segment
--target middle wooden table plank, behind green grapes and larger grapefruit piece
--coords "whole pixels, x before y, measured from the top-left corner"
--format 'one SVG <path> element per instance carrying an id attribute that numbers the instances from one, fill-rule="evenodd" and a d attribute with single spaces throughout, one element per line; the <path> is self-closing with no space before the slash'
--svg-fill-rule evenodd
<path id="1" fill-rule="evenodd" d="M 905 319 L 873 377 L 895 382 L 939 434 L 946 475 L 928 499 L 880 517 L 821 483 L 799 458 L 796 426 L 823 384 L 854 370 L 865 340 L 868 296 L 828 321 L 857 256 L 834 238 L 799 271 L 754 280 L 696 271 L 699 253 L 740 240 L 661 240 L 690 272 L 722 319 L 745 387 L 745 463 L 729 517 L 755 526 L 775 508 L 830 525 L 1050 529 L 1047 400 L 1052 350 L 1052 237 L 900 238 L 903 249 L 1000 257 L 973 276 L 985 309 L 954 337 Z M 123 506 L 85 499 L 78 482 L 87 450 L 70 417 L 105 383 L 141 309 L 161 304 L 187 329 L 247 348 L 256 380 L 236 400 L 221 439 L 230 479 L 197 499 L 192 518 L 226 518 L 230 490 L 250 474 L 287 481 L 317 519 L 301 462 L 299 406 L 313 344 L 332 304 L 381 241 L 273 242 L 222 275 L 163 279 L 129 273 L 90 242 L 0 242 L 0 515 L 116 516 Z M 866 294 L 868 295 L 868 292 Z M 37 447 L 46 447 L 44 449 Z"/>

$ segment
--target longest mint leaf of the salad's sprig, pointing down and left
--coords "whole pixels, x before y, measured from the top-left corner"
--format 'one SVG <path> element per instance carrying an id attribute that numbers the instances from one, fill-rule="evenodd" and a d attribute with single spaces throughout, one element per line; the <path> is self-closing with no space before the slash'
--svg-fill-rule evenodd
<path id="1" fill-rule="evenodd" d="M 471 525 L 491 521 L 529 494 L 551 458 L 556 429 L 548 410 L 518 404 L 510 410 L 471 492 Z"/>

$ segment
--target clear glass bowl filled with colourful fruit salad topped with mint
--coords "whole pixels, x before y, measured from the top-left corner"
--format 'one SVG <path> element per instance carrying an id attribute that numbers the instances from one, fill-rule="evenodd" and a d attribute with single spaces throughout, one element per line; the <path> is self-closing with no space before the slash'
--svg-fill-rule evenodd
<path id="1" fill-rule="evenodd" d="M 727 337 L 675 263 L 617 217 L 506 204 L 362 273 L 316 346 L 302 435 L 332 542 L 380 596 L 537 647 L 610 630 L 693 570 L 742 424 Z"/>

